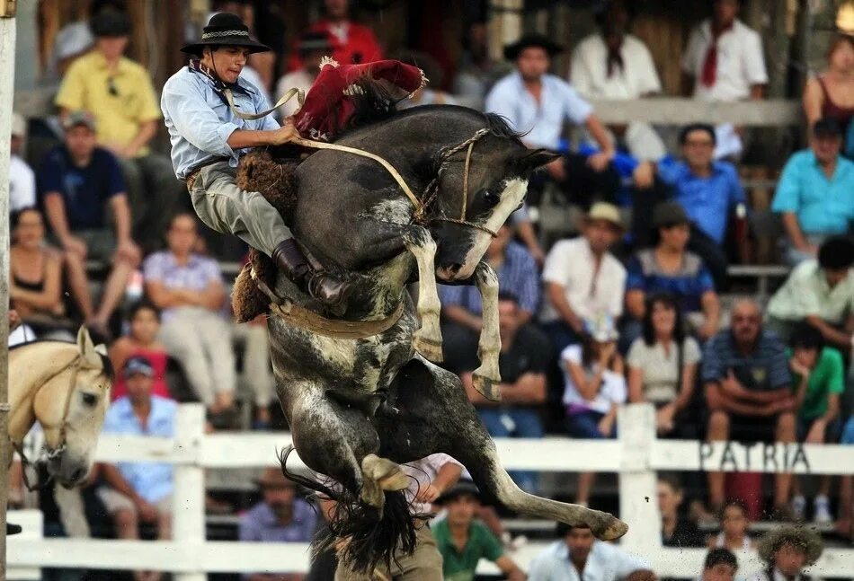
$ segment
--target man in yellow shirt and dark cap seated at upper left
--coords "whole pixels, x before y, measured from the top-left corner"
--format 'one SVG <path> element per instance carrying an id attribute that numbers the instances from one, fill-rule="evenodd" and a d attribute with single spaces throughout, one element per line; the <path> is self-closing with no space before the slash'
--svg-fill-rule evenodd
<path id="1" fill-rule="evenodd" d="M 154 250 L 182 199 L 169 158 L 148 147 L 160 123 L 160 107 L 147 70 L 123 56 L 130 33 L 127 14 L 103 10 L 90 27 L 94 48 L 68 68 L 56 104 L 63 118 L 74 110 L 92 113 L 98 144 L 119 158 L 128 182 L 135 238 Z"/>

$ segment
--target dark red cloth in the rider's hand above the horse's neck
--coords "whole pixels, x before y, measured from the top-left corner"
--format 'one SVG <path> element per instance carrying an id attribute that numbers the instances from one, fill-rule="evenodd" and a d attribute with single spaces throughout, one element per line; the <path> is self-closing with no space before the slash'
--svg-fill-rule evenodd
<path id="1" fill-rule="evenodd" d="M 427 84 L 417 66 L 397 60 L 377 60 L 363 65 L 339 65 L 325 57 L 320 74 L 306 95 L 306 102 L 294 115 L 300 135 L 311 139 L 332 139 L 350 120 L 355 107 L 350 96 L 358 92 L 363 77 L 385 80 L 410 95 Z"/>

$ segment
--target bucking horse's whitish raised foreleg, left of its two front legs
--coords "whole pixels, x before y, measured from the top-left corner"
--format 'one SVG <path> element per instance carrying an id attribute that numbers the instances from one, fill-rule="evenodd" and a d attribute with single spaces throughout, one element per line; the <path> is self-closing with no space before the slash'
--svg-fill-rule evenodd
<path id="1" fill-rule="evenodd" d="M 430 361 L 440 363 L 439 289 L 436 287 L 436 242 L 426 228 L 412 227 L 405 235 L 406 248 L 418 265 L 418 304 L 421 327 L 413 335 L 413 348 Z"/>

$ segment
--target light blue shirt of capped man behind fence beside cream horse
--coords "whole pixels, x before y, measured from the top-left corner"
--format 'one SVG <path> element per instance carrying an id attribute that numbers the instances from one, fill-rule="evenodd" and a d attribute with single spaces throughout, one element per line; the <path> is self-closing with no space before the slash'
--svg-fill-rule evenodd
<path id="1" fill-rule="evenodd" d="M 146 426 L 139 422 L 128 396 L 113 401 L 103 422 L 104 434 L 122 436 L 175 435 L 175 415 L 178 404 L 172 400 L 151 396 L 151 411 Z M 172 464 L 160 462 L 119 462 L 116 467 L 140 497 L 157 502 L 172 494 Z"/>

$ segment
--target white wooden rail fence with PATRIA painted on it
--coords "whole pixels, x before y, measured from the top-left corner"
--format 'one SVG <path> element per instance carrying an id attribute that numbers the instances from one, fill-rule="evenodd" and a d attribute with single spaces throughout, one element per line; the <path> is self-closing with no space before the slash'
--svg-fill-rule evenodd
<path id="1" fill-rule="evenodd" d="M 501 439 L 496 444 L 508 469 L 618 472 L 620 517 L 629 525 L 621 545 L 648 559 L 663 577 L 697 577 L 705 550 L 661 546 L 655 471 L 854 473 L 854 446 L 659 440 L 655 438 L 654 409 L 645 404 L 621 410 L 619 427 L 619 439 L 611 441 L 556 437 Z M 98 446 L 100 462 L 175 465 L 174 541 L 42 539 L 38 511 L 21 511 L 10 515 L 12 522 L 25 524 L 25 533 L 8 541 L 9 578 L 39 578 L 36 574 L 41 567 L 159 569 L 172 571 L 178 581 L 202 581 L 207 572 L 307 570 L 306 544 L 205 540 L 204 470 L 276 465 L 275 451 L 289 445 L 289 434 L 206 435 L 203 429 L 204 409 L 187 404 L 179 409 L 173 439 L 102 436 Z M 300 465 L 296 454 L 292 455 L 289 467 Z M 512 557 L 524 568 L 541 548 L 542 544 L 533 543 Z M 755 554 L 744 553 L 739 562 L 745 573 L 760 568 Z M 484 572 L 495 570 L 481 565 Z M 851 577 L 854 549 L 825 550 L 813 571 L 820 577 Z"/>

